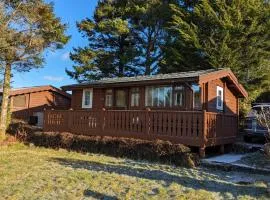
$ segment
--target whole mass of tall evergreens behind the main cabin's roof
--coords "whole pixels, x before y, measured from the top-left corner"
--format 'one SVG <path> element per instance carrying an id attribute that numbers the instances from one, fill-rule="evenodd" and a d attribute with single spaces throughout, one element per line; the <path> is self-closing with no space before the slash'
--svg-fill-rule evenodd
<path id="1" fill-rule="evenodd" d="M 231 68 L 249 102 L 269 88 L 269 0 L 102 0 L 78 28 L 88 44 L 67 73 L 79 82 Z"/>

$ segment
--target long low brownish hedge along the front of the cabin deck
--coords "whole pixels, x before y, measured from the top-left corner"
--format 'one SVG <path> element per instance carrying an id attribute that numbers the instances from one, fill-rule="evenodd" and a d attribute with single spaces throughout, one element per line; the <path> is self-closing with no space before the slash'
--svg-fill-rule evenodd
<path id="1" fill-rule="evenodd" d="M 33 143 L 36 146 L 158 161 L 184 167 L 199 164 L 198 155 L 192 153 L 188 147 L 167 141 L 45 133 L 22 122 L 13 123 L 10 132 L 24 143 Z"/>

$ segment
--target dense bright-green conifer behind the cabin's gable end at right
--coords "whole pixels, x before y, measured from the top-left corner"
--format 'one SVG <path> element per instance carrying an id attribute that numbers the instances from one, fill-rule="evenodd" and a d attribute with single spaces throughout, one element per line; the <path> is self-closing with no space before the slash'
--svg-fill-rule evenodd
<path id="1" fill-rule="evenodd" d="M 190 55 L 200 55 L 198 65 L 231 68 L 252 101 L 269 80 L 269 65 L 263 64 L 270 55 L 269 1 L 201 0 L 190 12 L 179 6 L 172 12 L 177 42 L 192 47 Z M 183 56 L 184 49 L 177 47 L 173 51 Z"/>

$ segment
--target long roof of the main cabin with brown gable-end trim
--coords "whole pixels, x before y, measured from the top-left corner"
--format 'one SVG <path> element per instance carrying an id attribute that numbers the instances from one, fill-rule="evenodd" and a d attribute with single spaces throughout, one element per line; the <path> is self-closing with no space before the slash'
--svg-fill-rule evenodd
<path id="1" fill-rule="evenodd" d="M 231 86 L 239 92 L 240 97 L 247 97 L 247 92 L 243 86 L 238 82 L 237 78 L 230 69 L 207 69 L 188 72 L 177 72 L 168 74 L 157 74 L 147 76 L 135 77 L 116 77 L 116 78 L 103 78 L 101 80 L 93 80 L 80 84 L 63 86 L 63 90 L 76 90 L 81 88 L 106 88 L 106 87 L 123 87 L 134 85 L 147 85 L 147 84 L 169 84 L 177 82 L 197 82 L 199 84 L 219 78 L 228 78 Z"/>

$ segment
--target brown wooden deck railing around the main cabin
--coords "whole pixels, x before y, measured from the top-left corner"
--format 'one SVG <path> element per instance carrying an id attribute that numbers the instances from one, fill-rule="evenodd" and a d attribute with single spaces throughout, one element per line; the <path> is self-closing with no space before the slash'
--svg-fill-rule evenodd
<path id="1" fill-rule="evenodd" d="M 44 131 L 161 139 L 205 147 L 233 142 L 237 116 L 205 111 L 46 110 Z"/>

